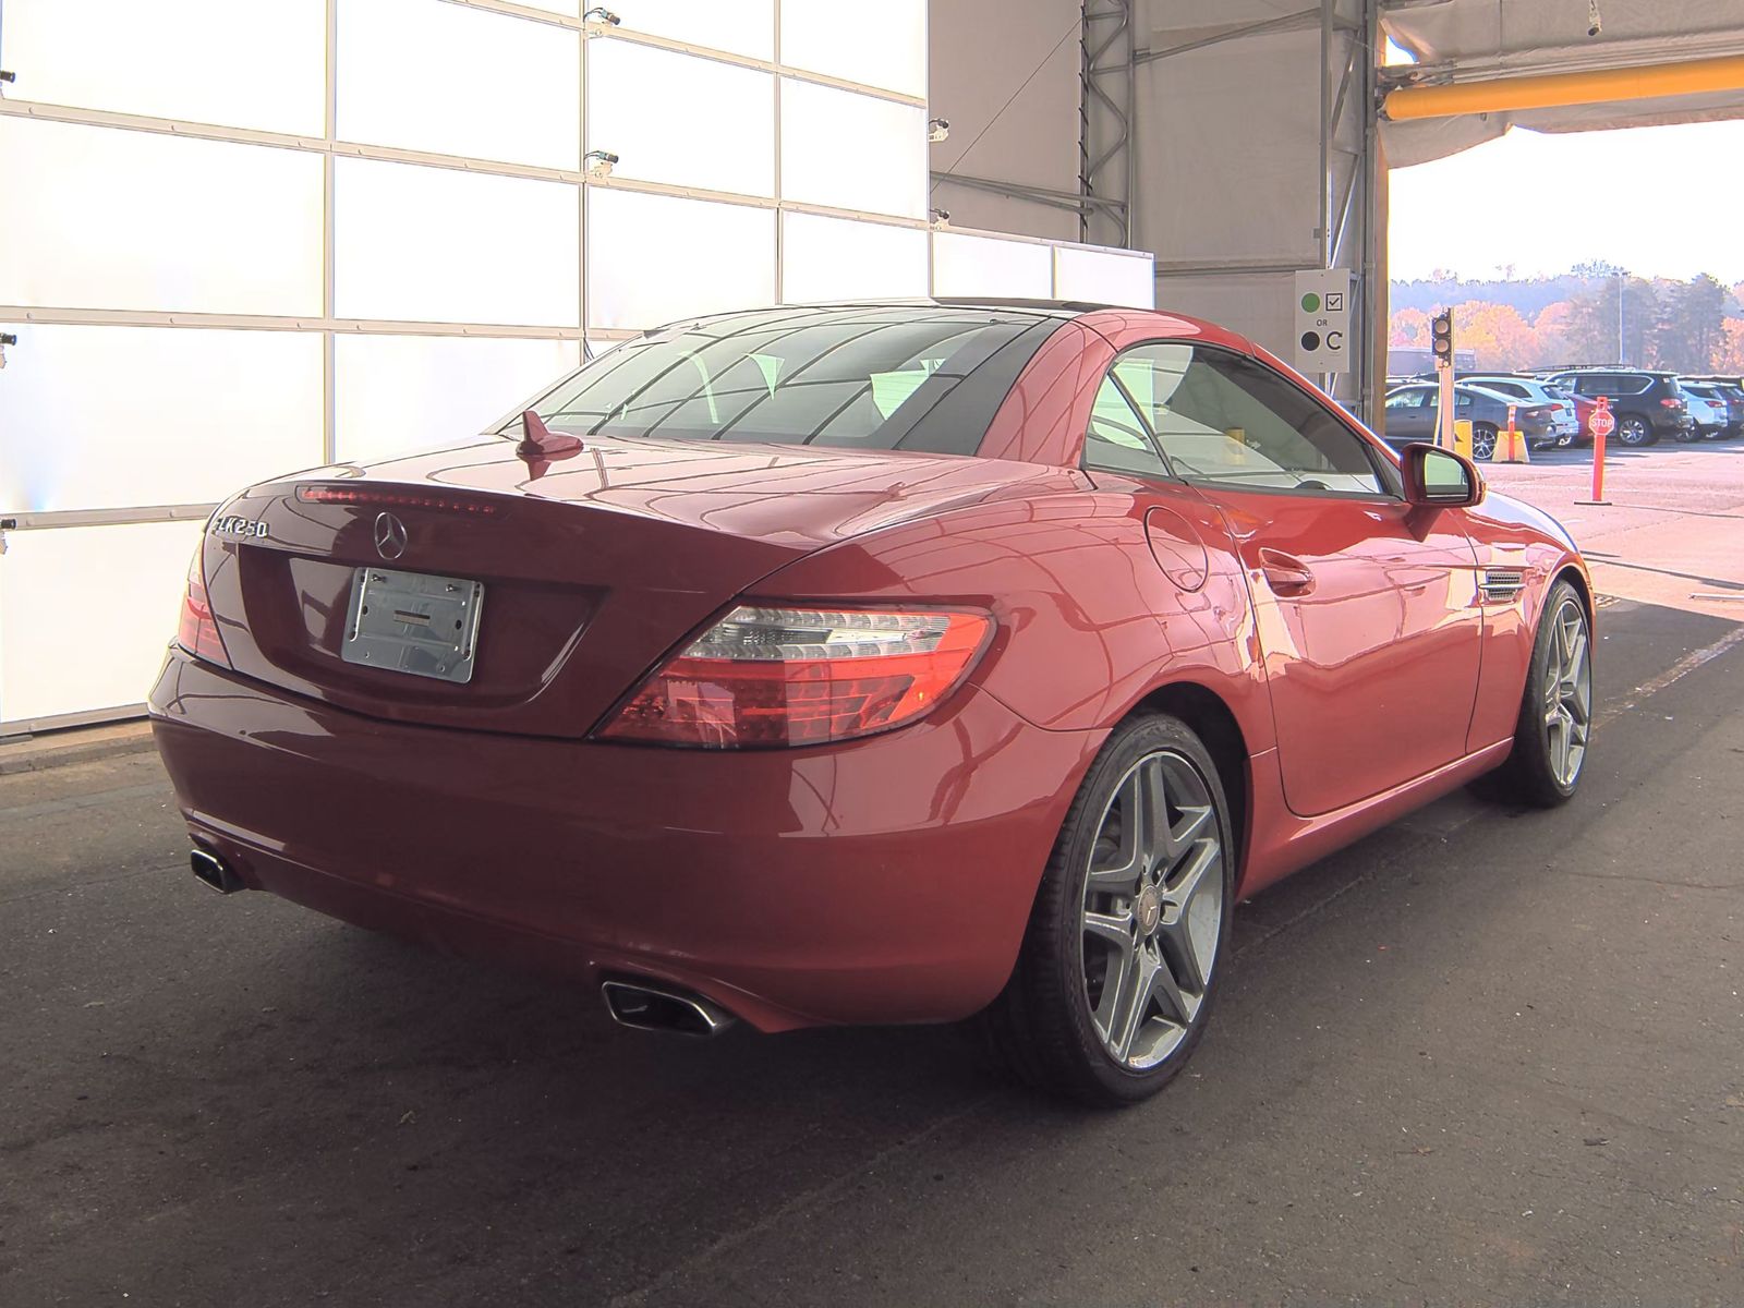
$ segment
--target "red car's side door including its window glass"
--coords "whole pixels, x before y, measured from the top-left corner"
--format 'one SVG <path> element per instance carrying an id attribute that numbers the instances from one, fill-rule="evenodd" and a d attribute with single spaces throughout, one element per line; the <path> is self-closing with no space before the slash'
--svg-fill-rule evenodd
<path id="1" fill-rule="evenodd" d="M 1463 757 L 1482 614 L 1461 514 L 1407 506 L 1367 438 L 1249 356 L 1151 342 L 1104 389 L 1230 530 L 1289 806 L 1332 813 Z"/>

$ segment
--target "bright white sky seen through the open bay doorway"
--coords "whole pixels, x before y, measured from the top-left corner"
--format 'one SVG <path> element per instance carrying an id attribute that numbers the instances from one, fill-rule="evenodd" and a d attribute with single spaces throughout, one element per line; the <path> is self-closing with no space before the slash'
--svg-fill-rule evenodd
<path id="1" fill-rule="evenodd" d="M 1641 277 L 1744 281 L 1744 122 L 1498 141 L 1392 174 L 1399 281 L 1566 272 L 1603 258 Z"/>

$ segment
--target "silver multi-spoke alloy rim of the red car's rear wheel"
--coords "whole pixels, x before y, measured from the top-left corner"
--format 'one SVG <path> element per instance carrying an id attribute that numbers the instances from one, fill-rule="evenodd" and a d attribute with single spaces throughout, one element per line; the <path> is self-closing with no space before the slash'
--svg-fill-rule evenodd
<path id="1" fill-rule="evenodd" d="M 1223 823 L 1198 767 L 1139 759 L 1090 848 L 1080 930 L 1090 1020 L 1120 1066 L 1146 1071 L 1193 1027 L 1223 938 Z"/>

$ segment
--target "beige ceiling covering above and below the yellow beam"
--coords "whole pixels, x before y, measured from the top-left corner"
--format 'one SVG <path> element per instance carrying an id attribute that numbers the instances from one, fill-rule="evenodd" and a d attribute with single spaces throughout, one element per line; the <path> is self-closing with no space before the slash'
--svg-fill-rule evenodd
<path id="1" fill-rule="evenodd" d="M 1744 0 L 1392 0 L 1381 23 L 1416 59 L 1418 84 L 1495 82 L 1543 73 L 1655 68 L 1744 56 Z M 1596 35 L 1589 30 L 1598 26 Z M 1617 96 L 1556 108 L 1388 122 L 1386 159 L 1423 164 L 1509 127 L 1599 131 L 1744 117 L 1744 89 L 1650 99 Z"/>

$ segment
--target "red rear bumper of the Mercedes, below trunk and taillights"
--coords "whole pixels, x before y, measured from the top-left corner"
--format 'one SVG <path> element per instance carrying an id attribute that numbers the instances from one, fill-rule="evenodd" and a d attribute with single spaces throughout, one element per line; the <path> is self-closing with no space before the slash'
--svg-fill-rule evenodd
<path id="1" fill-rule="evenodd" d="M 439 949 L 691 987 L 764 1031 L 966 1017 L 1010 975 L 1102 732 L 975 689 L 710 753 L 380 722 L 173 652 L 159 752 L 244 882 Z"/>

